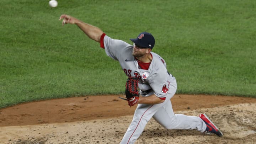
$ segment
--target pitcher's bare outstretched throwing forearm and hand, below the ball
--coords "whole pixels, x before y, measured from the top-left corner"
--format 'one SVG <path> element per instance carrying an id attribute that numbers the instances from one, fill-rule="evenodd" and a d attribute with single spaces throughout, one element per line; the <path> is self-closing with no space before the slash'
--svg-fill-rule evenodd
<path id="1" fill-rule="evenodd" d="M 59 20 L 62 20 L 62 25 L 64 24 L 75 24 L 77 25 L 89 38 L 93 39 L 96 42 L 100 42 L 100 37 L 103 34 L 103 32 L 100 30 L 100 28 L 92 26 L 88 23 L 82 22 L 78 20 L 77 18 L 74 18 L 69 15 L 61 15 Z"/>

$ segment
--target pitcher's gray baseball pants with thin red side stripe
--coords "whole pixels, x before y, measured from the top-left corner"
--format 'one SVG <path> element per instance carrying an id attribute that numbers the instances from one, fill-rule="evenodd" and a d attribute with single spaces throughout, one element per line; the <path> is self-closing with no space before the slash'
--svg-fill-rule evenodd
<path id="1" fill-rule="evenodd" d="M 197 129 L 204 132 L 206 124 L 201 118 L 186 116 L 184 114 L 174 114 L 170 98 L 176 92 L 176 81 L 171 86 L 169 87 L 169 91 L 172 90 L 172 93 L 168 94 L 165 102 L 155 105 L 138 104 L 133 120 L 120 144 L 133 144 L 143 132 L 151 117 L 166 129 Z"/>

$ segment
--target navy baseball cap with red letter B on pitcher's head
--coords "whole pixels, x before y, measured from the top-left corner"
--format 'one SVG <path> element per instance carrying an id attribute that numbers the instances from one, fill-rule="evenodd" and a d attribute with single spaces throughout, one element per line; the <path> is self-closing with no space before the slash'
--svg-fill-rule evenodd
<path id="1" fill-rule="evenodd" d="M 130 38 L 132 42 L 134 42 L 137 46 L 144 48 L 153 48 L 155 45 L 155 38 L 151 33 L 142 32 L 139 34 L 137 38 Z"/>

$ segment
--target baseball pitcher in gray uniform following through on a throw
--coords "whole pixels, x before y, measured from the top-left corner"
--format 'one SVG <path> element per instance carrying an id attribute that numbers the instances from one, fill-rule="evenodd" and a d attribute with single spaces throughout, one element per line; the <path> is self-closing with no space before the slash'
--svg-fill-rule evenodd
<path id="1" fill-rule="evenodd" d="M 133 144 L 143 132 L 146 123 L 153 117 L 166 129 L 196 129 L 207 134 L 222 132 L 206 114 L 186 116 L 175 114 L 170 99 L 174 96 L 177 83 L 166 69 L 165 60 L 152 52 L 155 38 L 151 33 L 142 32 L 130 39 L 133 45 L 122 40 L 112 39 L 99 28 L 89 25 L 69 15 L 61 15 L 62 24 L 77 25 L 89 38 L 100 43 L 106 54 L 117 60 L 128 79 L 126 98 L 129 106 L 137 105 L 121 144 Z"/>

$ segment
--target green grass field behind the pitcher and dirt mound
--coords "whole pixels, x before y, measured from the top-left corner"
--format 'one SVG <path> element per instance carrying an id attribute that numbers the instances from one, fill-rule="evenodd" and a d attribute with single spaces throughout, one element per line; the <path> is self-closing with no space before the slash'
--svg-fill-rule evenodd
<path id="1" fill-rule="evenodd" d="M 126 75 L 69 14 L 131 43 L 154 35 L 178 94 L 256 97 L 255 0 L 0 0 L 0 108 L 21 102 L 124 94 Z"/>

